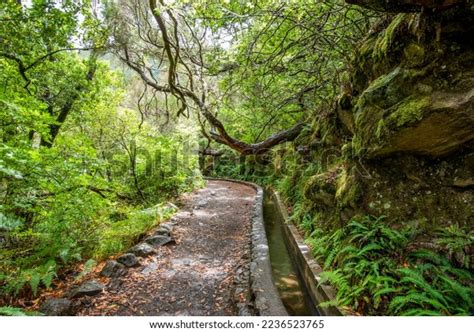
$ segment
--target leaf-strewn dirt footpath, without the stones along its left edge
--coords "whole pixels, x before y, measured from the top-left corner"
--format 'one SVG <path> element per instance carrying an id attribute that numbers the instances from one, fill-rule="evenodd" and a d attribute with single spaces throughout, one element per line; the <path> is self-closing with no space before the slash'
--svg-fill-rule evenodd
<path id="1" fill-rule="evenodd" d="M 176 243 L 111 280 L 78 315 L 235 315 L 234 278 L 248 269 L 255 190 L 210 180 L 184 195 Z"/>

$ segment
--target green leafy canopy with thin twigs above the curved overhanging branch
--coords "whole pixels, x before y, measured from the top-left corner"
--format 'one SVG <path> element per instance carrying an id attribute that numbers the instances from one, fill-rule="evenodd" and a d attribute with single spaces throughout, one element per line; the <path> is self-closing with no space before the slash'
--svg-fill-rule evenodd
<path id="1" fill-rule="evenodd" d="M 191 21 L 198 18 L 212 31 L 211 50 L 204 55 L 210 73 L 219 73 L 219 118 L 246 142 L 326 106 L 338 94 L 350 51 L 370 22 L 340 0 L 177 3 L 190 7 L 185 12 Z"/>

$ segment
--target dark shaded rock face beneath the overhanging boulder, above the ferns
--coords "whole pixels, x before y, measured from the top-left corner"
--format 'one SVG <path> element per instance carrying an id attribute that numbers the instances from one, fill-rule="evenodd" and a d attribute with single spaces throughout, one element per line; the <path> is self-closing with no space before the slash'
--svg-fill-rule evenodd
<path id="1" fill-rule="evenodd" d="M 464 186 L 474 176 L 472 156 L 396 154 L 367 161 L 370 176 L 360 178 L 364 191 L 358 206 L 365 214 L 385 215 L 426 231 L 453 224 L 472 228 L 474 195 Z M 466 181 L 462 187 L 459 180 Z"/>

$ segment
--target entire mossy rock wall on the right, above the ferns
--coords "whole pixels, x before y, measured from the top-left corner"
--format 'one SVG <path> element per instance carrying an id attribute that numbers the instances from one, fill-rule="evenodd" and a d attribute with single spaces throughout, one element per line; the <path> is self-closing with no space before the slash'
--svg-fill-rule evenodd
<path id="1" fill-rule="evenodd" d="M 333 106 L 299 138 L 310 153 L 282 157 L 294 172 L 287 196 L 314 228 L 334 231 L 357 215 L 424 234 L 472 227 L 474 16 L 446 14 L 384 19 Z"/>

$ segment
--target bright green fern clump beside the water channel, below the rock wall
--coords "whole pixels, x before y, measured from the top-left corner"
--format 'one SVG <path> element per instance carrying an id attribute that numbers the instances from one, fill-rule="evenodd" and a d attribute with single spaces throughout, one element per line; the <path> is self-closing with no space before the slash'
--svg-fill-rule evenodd
<path id="1" fill-rule="evenodd" d="M 356 218 L 332 234 L 308 239 L 324 262 L 321 283 L 337 289 L 337 304 L 363 314 L 468 315 L 474 276 L 429 250 L 409 251 L 408 228 L 384 218 Z"/>

